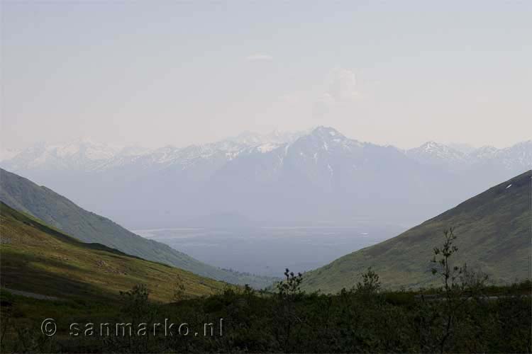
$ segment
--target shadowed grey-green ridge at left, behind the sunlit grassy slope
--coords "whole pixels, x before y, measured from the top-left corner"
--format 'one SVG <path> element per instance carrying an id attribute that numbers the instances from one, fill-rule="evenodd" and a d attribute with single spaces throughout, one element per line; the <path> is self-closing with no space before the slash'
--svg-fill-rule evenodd
<path id="1" fill-rule="evenodd" d="M 97 242 L 150 261 L 174 265 L 233 284 L 266 287 L 274 281 L 269 277 L 232 273 L 197 261 L 170 246 L 133 234 L 106 217 L 78 207 L 53 190 L 4 169 L 0 169 L 0 200 L 84 242 Z"/>

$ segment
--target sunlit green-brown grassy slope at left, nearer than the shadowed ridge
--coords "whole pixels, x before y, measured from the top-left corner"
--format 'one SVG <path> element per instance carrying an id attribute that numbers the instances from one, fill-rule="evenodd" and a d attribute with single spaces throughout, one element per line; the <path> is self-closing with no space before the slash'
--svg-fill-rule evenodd
<path id="1" fill-rule="evenodd" d="M 128 256 L 101 244 L 85 244 L 0 203 L 1 285 L 60 298 L 116 297 L 145 284 L 153 299 L 170 301 L 178 279 L 187 295 L 209 295 L 223 282 Z"/>

